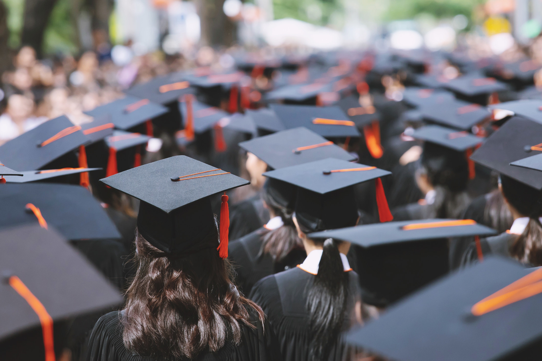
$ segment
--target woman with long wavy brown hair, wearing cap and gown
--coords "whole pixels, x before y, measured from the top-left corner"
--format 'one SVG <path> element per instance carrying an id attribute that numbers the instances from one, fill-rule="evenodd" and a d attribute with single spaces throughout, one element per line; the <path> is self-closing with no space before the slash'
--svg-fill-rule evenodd
<path id="1" fill-rule="evenodd" d="M 125 309 L 94 326 L 87 361 L 280 360 L 262 310 L 230 278 L 228 196 L 222 196 L 220 244 L 209 199 L 248 181 L 186 156 L 102 181 L 141 201 L 138 268 Z"/>

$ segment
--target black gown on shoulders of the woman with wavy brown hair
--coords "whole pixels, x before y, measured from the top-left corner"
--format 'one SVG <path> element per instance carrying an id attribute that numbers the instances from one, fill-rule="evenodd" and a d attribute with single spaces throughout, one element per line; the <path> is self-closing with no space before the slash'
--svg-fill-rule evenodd
<path id="1" fill-rule="evenodd" d="M 102 316 L 92 331 L 88 343 L 87 361 L 162 361 L 162 357 L 145 357 L 127 350 L 122 343 L 122 311 L 109 312 Z M 278 344 L 268 321 L 264 325 L 250 310 L 255 329 L 241 324 L 241 343 L 236 346 L 228 337 L 217 352 L 203 352 L 193 360 L 201 361 L 281 361 Z M 169 360 L 173 361 L 173 360 Z M 188 359 L 186 359 L 188 361 Z"/>

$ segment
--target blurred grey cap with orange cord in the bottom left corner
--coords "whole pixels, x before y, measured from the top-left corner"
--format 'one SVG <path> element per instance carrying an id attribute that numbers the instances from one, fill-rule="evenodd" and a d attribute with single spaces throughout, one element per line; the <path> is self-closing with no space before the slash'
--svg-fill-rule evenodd
<path id="1" fill-rule="evenodd" d="M 55 346 L 62 343 L 54 339 L 54 325 L 122 303 L 118 291 L 52 229 L 2 229 L 0 246 L 0 339 L 9 348 L 25 338 L 28 349 L 15 351 L 21 359 L 29 352 L 55 360 Z M 34 338 L 28 332 L 38 329 L 40 339 L 29 344 Z"/>

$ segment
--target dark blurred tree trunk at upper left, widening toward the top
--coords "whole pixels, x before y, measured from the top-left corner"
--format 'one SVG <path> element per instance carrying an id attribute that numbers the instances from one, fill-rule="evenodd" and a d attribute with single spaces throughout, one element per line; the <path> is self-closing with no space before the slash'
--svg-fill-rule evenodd
<path id="1" fill-rule="evenodd" d="M 30 45 L 36 50 L 38 58 L 43 55 L 43 35 L 56 0 L 25 0 L 23 16 L 23 45 Z"/>

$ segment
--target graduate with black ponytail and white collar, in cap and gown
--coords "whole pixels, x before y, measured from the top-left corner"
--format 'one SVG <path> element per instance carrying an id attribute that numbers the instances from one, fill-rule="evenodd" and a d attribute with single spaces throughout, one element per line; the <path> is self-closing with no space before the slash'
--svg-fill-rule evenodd
<path id="1" fill-rule="evenodd" d="M 354 226 L 359 219 L 353 185 L 377 181 L 384 207 L 382 182 L 390 174 L 376 167 L 324 159 L 286 167 L 266 175 L 298 186 L 294 223 L 307 252 L 296 268 L 269 275 L 256 283 L 250 298 L 259 304 L 280 342 L 285 360 L 346 360 L 352 350 L 341 332 L 361 321 L 358 275 L 346 258 L 350 242 L 310 239 L 308 233 Z M 387 203 L 386 203 L 387 205 Z M 382 220 L 390 220 L 381 209 Z"/>

